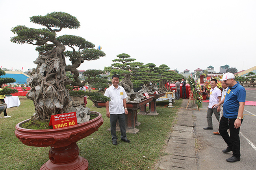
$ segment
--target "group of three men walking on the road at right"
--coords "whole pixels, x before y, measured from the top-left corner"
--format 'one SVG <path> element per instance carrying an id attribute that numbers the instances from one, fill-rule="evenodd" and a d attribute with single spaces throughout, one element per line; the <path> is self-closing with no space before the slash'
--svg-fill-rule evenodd
<path id="1" fill-rule="evenodd" d="M 233 156 L 226 161 L 236 162 L 240 161 L 241 156 L 239 131 L 243 122 L 246 92 L 245 88 L 236 82 L 232 73 L 225 73 L 220 81 L 222 81 L 222 93 L 216 87 L 217 80 L 211 80 L 210 101 L 206 116 L 208 127 L 204 130 L 213 129 L 211 116 L 214 113 L 219 121 L 219 132 L 213 133 L 221 135 L 227 144 L 227 148 L 222 150 L 223 153 L 233 152 Z"/>

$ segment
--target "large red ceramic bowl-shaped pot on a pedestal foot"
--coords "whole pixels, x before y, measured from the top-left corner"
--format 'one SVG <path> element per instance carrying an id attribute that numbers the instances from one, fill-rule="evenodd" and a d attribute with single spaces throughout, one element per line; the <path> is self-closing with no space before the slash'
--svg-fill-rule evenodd
<path id="1" fill-rule="evenodd" d="M 49 159 L 40 170 L 87 170 L 88 161 L 79 156 L 77 141 L 94 133 L 103 124 L 101 114 L 98 117 L 75 126 L 50 130 L 31 130 L 20 127 L 19 122 L 15 128 L 16 137 L 28 146 L 46 147 L 50 146 Z"/>

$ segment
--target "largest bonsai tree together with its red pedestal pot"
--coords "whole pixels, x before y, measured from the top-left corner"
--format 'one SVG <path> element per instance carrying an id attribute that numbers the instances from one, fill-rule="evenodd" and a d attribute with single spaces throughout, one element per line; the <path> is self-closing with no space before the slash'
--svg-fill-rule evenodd
<path id="1" fill-rule="evenodd" d="M 42 29 L 16 26 L 11 31 L 16 35 L 11 42 L 18 44 L 32 44 L 37 46 L 39 57 L 34 61 L 37 67 L 30 71 L 27 80 L 31 87 L 26 97 L 35 106 L 35 115 L 31 120 L 46 120 L 52 115 L 67 113 L 69 109 L 70 93 L 66 85 L 83 86 L 86 82 L 78 79 L 78 68 L 85 60 L 96 60 L 104 57 L 105 53 L 94 49 L 95 45 L 82 37 L 62 35 L 56 33 L 62 29 L 78 29 L 80 22 L 76 17 L 63 12 L 48 13 L 45 16 L 32 16 L 31 22 L 44 26 Z M 65 51 L 69 47 L 71 51 Z M 65 58 L 69 58 L 71 65 L 67 65 Z M 73 80 L 66 76 L 66 71 L 73 74 Z M 30 146 L 51 146 L 50 160 L 41 169 L 88 169 L 88 161 L 79 156 L 76 142 L 98 130 L 103 123 L 100 113 L 98 117 L 88 122 L 61 129 L 29 130 L 21 128 L 23 121 L 15 127 L 15 135 L 19 140 Z"/>

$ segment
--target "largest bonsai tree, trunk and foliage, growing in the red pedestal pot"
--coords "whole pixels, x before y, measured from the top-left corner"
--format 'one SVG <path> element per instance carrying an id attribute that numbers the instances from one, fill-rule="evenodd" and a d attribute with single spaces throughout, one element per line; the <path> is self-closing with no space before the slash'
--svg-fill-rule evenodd
<path id="1" fill-rule="evenodd" d="M 84 60 L 96 60 L 104 57 L 105 53 L 94 49 L 95 45 L 82 37 L 56 33 L 64 28 L 78 29 L 80 22 L 76 17 L 63 12 L 49 13 L 45 16 L 32 16 L 31 22 L 44 26 L 43 29 L 16 26 L 11 31 L 16 35 L 11 42 L 32 44 L 37 46 L 38 58 L 34 61 L 37 68 L 30 73 L 27 81 L 31 90 L 28 99 L 35 105 L 34 119 L 49 119 L 51 115 L 65 113 L 69 105 L 67 84 L 83 86 L 86 82 L 78 79 L 78 68 Z M 65 51 L 65 46 L 71 51 Z M 67 65 L 68 57 L 72 65 Z M 75 81 L 67 78 L 65 72 L 72 72 Z"/>

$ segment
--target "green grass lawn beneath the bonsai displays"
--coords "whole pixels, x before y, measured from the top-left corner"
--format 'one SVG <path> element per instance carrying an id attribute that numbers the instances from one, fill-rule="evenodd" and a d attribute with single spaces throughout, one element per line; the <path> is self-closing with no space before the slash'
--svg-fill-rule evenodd
<path id="1" fill-rule="evenodd" d="M 14 134 L 15 125 L 23 120 L 30 119 L 34 113 L 31 100 L 20 97 L 20 106 L 7 109 L 10 118 L 0 118 L 0 169 L 1 170 L 39 170 L 48 161 L 50 147 L 33 147 L 22 144 Z M 182 100 L 176 100 L 173 106 L 180 106 Z M 141 122 L 137 134 L 127 133 L 131 143 L 119 139 L 115 146 L 111 141 L 109 118 L 106 117 L 106 108 L 87 106 L 102 114 L 104 123 L 92 135 L 77 142 L 80 156 L 89 161 L 89 170 L 153 170 L 155 163 L 163 154 L 167 134 L 171 132 L 178 108 L 164 107 L 167 101 L 157 103 L 157 116 L 138 115 Z M 147 107 L 148 110 L 148 107 Z M 1 113 L 3 116 L 3 113 Z"/>

